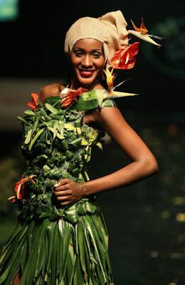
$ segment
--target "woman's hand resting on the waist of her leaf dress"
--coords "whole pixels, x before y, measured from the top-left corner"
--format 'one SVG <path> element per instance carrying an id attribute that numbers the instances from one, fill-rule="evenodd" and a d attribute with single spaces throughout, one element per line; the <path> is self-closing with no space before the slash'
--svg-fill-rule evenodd
<path id="1" fill-rule="evenodd" d="M 83 183 L 61 179 L 53 186 L 53 194 L 56 196 L 59 204 L 63 206 L 73 204 L 83 198 Z"/>

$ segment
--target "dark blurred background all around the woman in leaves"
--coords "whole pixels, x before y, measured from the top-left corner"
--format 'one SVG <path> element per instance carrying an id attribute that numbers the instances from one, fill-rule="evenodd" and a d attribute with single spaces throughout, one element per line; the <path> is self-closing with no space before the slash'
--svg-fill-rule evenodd
<path id="1" fill-rule="evenodd" d="M 121 10 L 132 28 L 142 17 L 162 47 L 141 43 L 133 70 L 118 72 L 120 90 L 138 93 L 117 99 L 127 122 L 159 162 L 157 175 L 125 189 L 98 195 L 110 234 L 116 285 L 185 284 L 185 16 L 184 1 L 0 0 L 0 246 L 16 224 L 7 202 L 23 172 L 21 127 L 31 92 L 68 81 L 65 33 L 80 17 Z M 133 38 L 133 41 L 136 41 Z M 115 142 L 95 150 L 91 178 L 129 160 Z"/>

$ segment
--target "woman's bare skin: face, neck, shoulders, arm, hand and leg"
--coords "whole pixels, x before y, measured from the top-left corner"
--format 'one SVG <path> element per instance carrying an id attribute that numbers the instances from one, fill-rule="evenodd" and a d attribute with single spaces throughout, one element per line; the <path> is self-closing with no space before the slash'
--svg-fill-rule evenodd
<path id="1" fill-rule="evenodd" d="M 77 41 L 71 52 L 70 63 L 73 70 L 73 77 L 70 81 L 71 90 L 76 90 L 78 87 L 88 88 L 88 90 L 104 89 L 100 84 L 100 78 L 105 66 L 105 57 L 100 41 L 92 38 Z M 91 73 L 92 76 L 90 76 Z M 43 87 L 41 101 L 51 96 L 60 95 L 63 88 L 65 86 L 58 83 Z M 157 172 L 158 165 L 154 155 L 129 126 L 118 108 L 93 110 L 84 116 L 83 121 L 85 124 L 104 129 L 132 162 L 110 175 L 88 182 L 77 183 L 68 179 L 59 180 L 53 186 L 53 195 L 62 206 L 68 206 L 99 192 L 126 187 Z M 20 277 L 16 274 L 12 285 L 19 283 Z"/>

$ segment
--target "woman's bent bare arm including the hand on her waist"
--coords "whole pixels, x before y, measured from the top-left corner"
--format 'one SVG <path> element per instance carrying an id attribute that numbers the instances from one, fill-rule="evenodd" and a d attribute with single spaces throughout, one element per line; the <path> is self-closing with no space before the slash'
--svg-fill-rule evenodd
<path id="1" fill-rule="evenodd" d="M 95 122 L 120 145 L 121 150 L 132 162 L 110 175 L 88 182 L 75 183 L 70 180 L 60 180 L 53 191 L 63 205 L 98 192 L 125 187 L 158 170 L 154 155 L 139 135 L 127 124 L 118 108 L 107 107 L 97 110 L 94 118 Z"/>

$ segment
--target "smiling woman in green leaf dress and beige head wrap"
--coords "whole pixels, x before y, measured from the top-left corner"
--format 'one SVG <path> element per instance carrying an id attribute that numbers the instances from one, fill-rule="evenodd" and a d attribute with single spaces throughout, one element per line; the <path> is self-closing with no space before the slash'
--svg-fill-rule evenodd
<path id="1" fill-rule="evenodd" d="M 100 83 L 111 63 L 133 66 L 133 58 L 121 62 L 125 51 L 136 54 L 125 26 L 120 11 L 75 22 L 65 38 L 72 70 L 68 86 L 42 88 L 41 102 L 32 93 L 32 110 L 19 118 L 27 167 L 11 197 L 20 214 L 1 255 L 0 284 L 113 284 L 107 229 L 95 194 L 157 172 L 154 155 L 110 100 L 125 95 L 115 92 L 112 71 L 105 71 L 108 90 Z M 125 55 L 117 61 L 120 46 Z M 132 162 L 89 180 L 85 164 L 93 146 L 101 147 L 102 130 Z"/>

